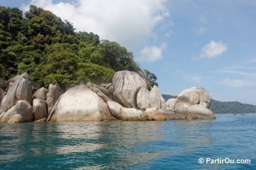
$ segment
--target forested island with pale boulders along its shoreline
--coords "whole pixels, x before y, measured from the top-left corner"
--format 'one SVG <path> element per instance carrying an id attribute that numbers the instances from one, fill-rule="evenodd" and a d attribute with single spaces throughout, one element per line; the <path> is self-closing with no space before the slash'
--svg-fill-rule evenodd
<path id="1" fill-rule="evenodd" d="M 215 119 L 206 89 L 165 102 L 132 52 L 31 5 L 1 7 L 0 121 Z"/>

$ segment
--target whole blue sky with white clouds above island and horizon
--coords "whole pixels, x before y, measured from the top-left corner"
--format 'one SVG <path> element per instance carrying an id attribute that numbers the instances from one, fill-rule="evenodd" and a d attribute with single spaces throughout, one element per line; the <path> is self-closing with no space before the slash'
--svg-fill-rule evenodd
<path id="1" fill-rule="evenodd" d="M 125 46 L 163 94 L 202 86 L 216 100 L 256 104 L 255 0 L 0 0 L 30 4 Z"/>

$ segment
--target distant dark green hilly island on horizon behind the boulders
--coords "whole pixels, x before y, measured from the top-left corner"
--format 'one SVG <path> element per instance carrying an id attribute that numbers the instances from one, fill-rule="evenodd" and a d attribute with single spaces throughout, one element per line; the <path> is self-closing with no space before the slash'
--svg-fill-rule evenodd
<path id="1" fill-rule="evenodd" d="M 165 100 L 177 98 L 177 95 L 162 95 Z M 213 113 L 256 113 L 256 106 L 253 104 L 243 104 L 239 101 L 216 101 L 212 100 L 211 110 Z"/>

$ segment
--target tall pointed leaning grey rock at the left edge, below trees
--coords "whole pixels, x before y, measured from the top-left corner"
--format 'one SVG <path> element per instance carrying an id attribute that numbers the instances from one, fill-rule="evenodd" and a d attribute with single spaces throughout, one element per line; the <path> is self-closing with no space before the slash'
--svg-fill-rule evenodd
<path id="1" fill-rule="evenodd" d="M 31 104 L 31 83 L 28 81 L 28 74 L 24 73 L 15 77 L 15 82 L 10 84 L 10 88 L 4 99 L 1 101 L 1 112 L 6 112 L 13 107 L 17 101 L 25 100 Z"/>

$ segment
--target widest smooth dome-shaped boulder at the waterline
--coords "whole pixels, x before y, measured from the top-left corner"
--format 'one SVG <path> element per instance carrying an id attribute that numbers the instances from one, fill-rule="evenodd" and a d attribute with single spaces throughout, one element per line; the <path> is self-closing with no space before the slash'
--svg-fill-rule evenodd
<path id="1" fill-rule="evenodd" d="M 85 85 L 68 89 L 52 108 L 47 121 L 70 122 L 115 119 L 102 98 Z"/>

